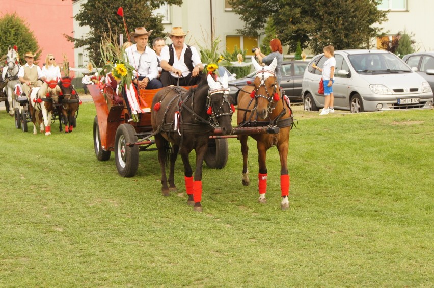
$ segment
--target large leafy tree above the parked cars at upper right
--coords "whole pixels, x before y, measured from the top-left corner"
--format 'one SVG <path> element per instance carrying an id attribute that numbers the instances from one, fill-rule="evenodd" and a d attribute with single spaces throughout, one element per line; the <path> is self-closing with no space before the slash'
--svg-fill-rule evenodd
<path id="1" fill-rule="evenodd" d="M 246 23 L 239 33 L 257 36 L 266 19 L 273 18 L 276 34 L 283 45 L 295 51 L 310 47 L 315 53 L 334 45 L 335 49 L 368 48 L 369 40 L 387 20 L 379 11 L 381 0 L 230 0 L 233 10 Z"/>

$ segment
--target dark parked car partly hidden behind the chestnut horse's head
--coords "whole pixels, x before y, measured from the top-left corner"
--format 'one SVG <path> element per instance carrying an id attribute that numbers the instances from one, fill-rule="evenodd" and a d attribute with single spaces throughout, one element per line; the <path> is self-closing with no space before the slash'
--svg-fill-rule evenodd
<path id="1" fill-rule="evenodd" d="M 282 73 L 282 81 L 280 86 L 285 90 L 285 94 L 291 101 L 302 101 L 302 81 L 303 73 L 308 63 L 305 61 L 283 61 L 280 71 Z M 244 78 L 240 78 L 234 81 L 229 81 L 230 95 L 237 103 L 239 88 L 253 82 L 256 77 L 256 71 L 250 73 Z"/>

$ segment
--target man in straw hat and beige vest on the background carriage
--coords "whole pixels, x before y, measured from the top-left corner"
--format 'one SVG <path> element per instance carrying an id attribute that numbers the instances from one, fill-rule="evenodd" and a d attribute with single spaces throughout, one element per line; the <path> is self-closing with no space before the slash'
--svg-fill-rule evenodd
<path id="1" fill-rule="evenodd" d="M 39 66 L 33 64 L 33 58 L 36 54 L 28 52 L 24 54 L 24 59 L 27 63 L 21 66 L 18 71 L 18 80 L 22 83 L 22 91 L 29 96 L 30 89 L 40 87 L 41 80 L 45 80 L 45 75 Z"/>

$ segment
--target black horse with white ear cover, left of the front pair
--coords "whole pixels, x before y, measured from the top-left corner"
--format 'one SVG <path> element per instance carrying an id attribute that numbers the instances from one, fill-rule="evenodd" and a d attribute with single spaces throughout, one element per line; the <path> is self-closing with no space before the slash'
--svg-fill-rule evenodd
<path id="1" fill-rule="evenodd" d="M 187 204 L 194 206 L 194 211 L 198 212 L 203 211 L 202 164 L 208 149 L 209 136 L 218 125 L 222 134 L 230 134 L 231 118 L 235 111 L 229 96 L 227 74 L 225 73 L 221 82 L 215 82 L 213 77 L 208 75 L 207 82 L 208 84 L 201 83 L 197 88 L 188 91 L 177 86 L 161 88 L 152 100 L 151 109 L 151 125 L 161 168 L 161 191 L 165 196 L 169 196 L 169 191 L 176 191 L 174 167 L 179 152 L 184 164 Z M 170 155 L 169 142 L 172 143 Z M 194 179 L 188 159 L 193 149 L 196 152 Z M 167 179 L 165 166 L 169 160 L 170 172 Z"/>

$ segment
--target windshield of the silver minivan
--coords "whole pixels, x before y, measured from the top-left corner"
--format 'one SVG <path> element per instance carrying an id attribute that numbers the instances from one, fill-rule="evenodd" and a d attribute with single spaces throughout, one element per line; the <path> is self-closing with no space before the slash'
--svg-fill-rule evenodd
<path id="1" fill-rule="evenodd" d="M 366 53 L 348 55 L 349 62 L 359 74 L 410 73 L 412 70 L 394 54 Z"/>

